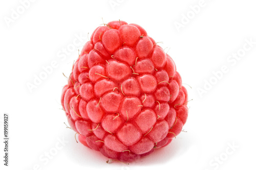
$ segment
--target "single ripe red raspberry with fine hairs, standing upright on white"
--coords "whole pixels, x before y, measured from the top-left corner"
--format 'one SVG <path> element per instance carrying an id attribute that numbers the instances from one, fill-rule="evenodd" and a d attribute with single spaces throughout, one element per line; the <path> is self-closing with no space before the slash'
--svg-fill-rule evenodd
<path id="1" fill-rule="evenodd" d="M 123 162 L 165 147 L 188 115 L 187 91 L 173 59 L 142 27 L 124 21 L 93 32 L 61 104 L 83 145 Z"/>

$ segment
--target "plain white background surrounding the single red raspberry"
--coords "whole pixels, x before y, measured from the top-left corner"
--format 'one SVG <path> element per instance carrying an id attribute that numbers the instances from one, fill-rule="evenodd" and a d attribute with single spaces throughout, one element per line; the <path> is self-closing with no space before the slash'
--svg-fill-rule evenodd
<path id="1" fill-rule="evenodd" d="M 23 0 L 24 1 L 24 0 Z M 111 6 L 110 2 L 116 2 Z M 18 0 L 1 1 L 1 88 L 0 113 L 9 114 L 9 166 L 4 166 L 1 142 L 1 169 L 255 169 L 255 63 L 256 10 L 251 0 L 205 0 L 193 16 L 186 1 L 34 1 L 22 14 L 7 24 Z M 20 10 L 20 9 L 19 9 Z M 20 12 L 20 11 L 19 11 Z M 188 23 L 178 29 L 183 15 Z M 136 162 L 106 164 L 108 158 L 76 143 L 66 129 L 60 95 L 67 83 L 78 48 L 88 41 L 93 30 L 112 20 L 124 20 L 142 26 L 149 36 L 174 59 L 189 94 L 189 116 L 184 131 L 167 147 Z M 86 37 L 75 50 L 58 58 L 63 48 L 72 45 L 75 35 Z M 243 52 L 246 39 L 254 42 L 238 61 L 228 61 L 233 53 Z M 77 41 L 78 42 L 78 41 Z M 250 47 L 248 44 L 245 45 Z M 27 83 L 42 67 L 56 61 L 58 66 L 30 92 Z M 218 79 L 213 71 L 225 65 L 228 71 Z M 205 81 L 215 84 L 201 96 Z M 3 137 L 1 137 L 3 138 Z M 46 152 L 54 151 L 58 139 L 68 143 L 47 162 Z M 2 140 L 1 140 L 2 141 Z M 230 144 L 238 148 L 229 148 Z M 59 145 L 60 146 L 60 145 Z M 56 150 L 55 150 L 56 151 Z M 229 155 L 226 154 L 229 153 Z M 231 153 L 230 153 L 231 152 Z M 221 162 L 215 159 L 221 157 Z"/>

